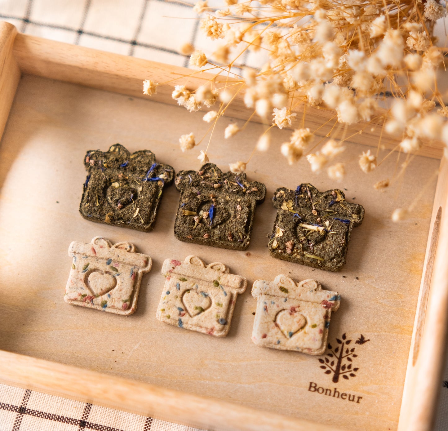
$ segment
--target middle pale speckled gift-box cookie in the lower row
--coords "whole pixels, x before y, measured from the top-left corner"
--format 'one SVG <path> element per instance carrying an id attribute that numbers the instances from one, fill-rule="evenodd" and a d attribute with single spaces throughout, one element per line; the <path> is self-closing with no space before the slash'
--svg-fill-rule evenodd
<path id="1" fill-rule="evenodd" d="M 157 319 L 217 337 L 227 335 L 237 295 L 246 290 L 246 278 L 229 274 L 223 263 L 206 266 L 193 255 L 184 262 L 166 259 L 162 274 L 166 280 Z"/>

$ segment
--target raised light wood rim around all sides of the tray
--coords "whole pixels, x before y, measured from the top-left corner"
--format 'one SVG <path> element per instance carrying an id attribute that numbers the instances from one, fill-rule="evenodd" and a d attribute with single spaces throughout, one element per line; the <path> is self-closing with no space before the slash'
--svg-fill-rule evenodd
<path id="1" fill-rule="evenodd" d="M 22 73 L 143 97 L 142 81 L 148 76 L 162 81 L 167 75 L 178 75 L 181 80 L 182 76 L 190 72 L 189 69 L 176 66 L 18 34 L 16 28 L 6 22 L 0 22 L 0 62 L 0 136 Z M 195 86 L 201 79 L 190 78 L 190 82 Z M 171 92 L 176 83 L 172 81 L 159 86 L 155 100 L 173 103 Z M 241 101 L 237 101 L 236 107 L 229 110 L 228 115 L 249 117 Z M 322 111 L 315 110 L 312 115 L 316 121 L 322 121 L 318 118 L 322 117 Z M 363 135 L 362 141 L 358 141 L 355 137 L 353 142 L 372 145 L 378 137 L 373 134 L 369 139 L 365 138 L 366 135 Z M 393 148 L 396 142 L 389 140 L 386 146 Z M 448 266 L 445 264 L 448 256 L 448 217 L 445 216 L 448 204 L 448 163 L 441 148 L 440 143 L 430 143 L 419 153 L 442 159 L 405 378 L 399 431 L 431 430 L 444 364 L 448 320 Z M 190 426 L 217 430 L 336 430 L 332 425 L 266 414 L 226 401 L 3 350 L 0 350 L 0 363 L 0 381 L 5 384 Z"/>

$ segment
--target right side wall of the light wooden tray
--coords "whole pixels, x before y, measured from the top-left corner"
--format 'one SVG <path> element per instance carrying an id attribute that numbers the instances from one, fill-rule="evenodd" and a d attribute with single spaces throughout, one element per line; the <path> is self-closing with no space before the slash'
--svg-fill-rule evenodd
<path id="1" fill-rule="evenodd" d="M 445 361 L 448 316 L 448 163 L 435 191 L 423 277 L 406 371 L 400 431 L 431 431 Z"/>

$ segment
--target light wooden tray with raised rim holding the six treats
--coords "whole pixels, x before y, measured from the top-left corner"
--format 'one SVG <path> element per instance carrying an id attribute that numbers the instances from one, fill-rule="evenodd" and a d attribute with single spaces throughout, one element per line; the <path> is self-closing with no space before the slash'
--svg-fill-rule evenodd
<path id="1" fill-rule="evenodd" d="M 142 96 L 145 78 L 163 82 L 190 71 L 17 34 L 6 23 L 0 26 L 0 60 L 2 382 L 215 430 L 430 429 L 448 304 L 448 178 L 445 159 L 437 158 L 440 145 L 429 143 L 422 151 L 426 157 L 412 158 L 400 184 L 380 193 L 372 184 L 391 176 L 405 156 L 395 153 L 365 175 L 357 155 L 377 138 L 363 134 L 347 142 L 349 175 L 340 187 L 348 200 L 365 207 L 366 217 L 353 231 L 344 270 L 322 272 L 267 254 L 273 190 L 301 182 L 319 190 L 334 187 L 326 175 L 312 174 L 305 159 L 289 167 L 276 153 L 290 131 L 276 131 L 271 152 L 255 154 L 249 164 L 250 179 L 266 183 L 267 200 L 256 211 L 247 252 L 177 241 L 173 186 L 164 192 L 151 233 L 94 224 L 78 213 L 86 150 L 120 142 L 130 151 L 151 149 L 176 171 L 198 168 L 198 150 L 181 153 L 178 138 L 191 131 L 201 136 L 208 125 L 202 113 L 172 105 L 176 81 L 160 86 L 155 99 L 134 97 Z M 317 115 L 330 114 L 314 110 L 306 118 L 313 123 Z M 237 103 L 232 115 L 247 113 Z M 220 122 L 209 151 L 223 169 L 247 159 L 263 130 L 250 123 L 235 139 L 224 140 L 232 121 L 237 120 Z M 379 159 L 386 154 L 380 151 Z M 392 211 L 419 194 L 412 218 L 392 223 Z M 130 241 L 153 258 L 134 315 L 63 301 L 69 243 L 96 235 Z M 224 339 L 155 319 L 163 260 L 187 254 L 222 261 L 248 279 Z M 321 369 L 319 358 L 325 356 L 252 343 L 256 302 L 250 286 L 279 273 L 316 278 L 341 294 L 328 340 L 333 350 L 336 339 L 351 340 L 355 377 L 334 383 Z M 369 341 L 362 343 L 361 334 Z"/>

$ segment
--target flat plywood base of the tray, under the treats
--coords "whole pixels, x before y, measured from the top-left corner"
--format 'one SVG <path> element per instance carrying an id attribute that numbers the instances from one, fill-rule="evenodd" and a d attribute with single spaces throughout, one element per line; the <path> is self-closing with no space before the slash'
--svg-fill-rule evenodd
<path id="1" fill-rule="evenodd" d="M 278 150 L 288 138 L 287 130 L 276 133 L 271 152 L 255 153 L 248 165 L 249 179 L 264 182 L 268 191 L 266 202 L 256 210 L 246 252 L 177 241 L 173 224 L 179 194 L 174 186 L 164 192 L 151 233 L 82 219 L 78 206 L 87 150 L 106 150 L 120 142 L 130 151 L 151 149 L 176 171 L 199 168 L 196 157 L 205 145 L 181 153 L 178 138 L 193 128 L 197 136 L 205 133 L 208 125 L 201 118 L 201 113 L 151 100 L 36 76 L 22 78 L 0 146 L 0 349 L 214 397 L 261 409 L 266 415 L 284 414 L 347 430 L 395 430 L 439 160 L 413 157 L 399 180 L 381 193 L 372 185 L 392 177 L 396 168 L 398 172 L 405 156 L 395 153 L 366 175 L 358 167 L 364 145 L 347 144 L 348 176 L 338 186 L 347 200 L 365 207 L 366 216 L 353 230 L 348 263 L 339 273 L 267 254 L 267 235 L 275 219 L 270 198 L 277 187 L 293 189 L 302 182 L 319 190 L 336 186 L 324 173 L 311 173 L 306 159 L 294 166 L 285 164 Z M 241 124 L 228 119 L 233 121 Z M 263 125 L 251 123 L 234 139 L 224 140 L 228 122 L 217 126 L 209 150 L 211 161 L 224 170 L 228 163 L 249 157 L 263 130 Z M 387 154 L 380 151 L 379 159 Z M 409 206 L 420 194 L 410 218 L 394 224 L 392 211 Z M 112 242 L 130 241 L 153 259 L 134 315 L 110 315 L 69 306 L 63 300 L 70 242 L 90 241 L 96 235 Z M 206 263 L 221 261 L 248 279 L 249 287 L 238 297 L 232 328 L 224 339 L 155 319 L 164 259 L 182 260 L 188 254 L 197 254 Z M 317 357 L 252 343 L 256 301 L 250 286 L 258 278 L 273 280 L 279 273 L 296 280 L 315 278 L 324 289 L 341 294 L 328 340 L 333 349 L 343 334 L 345 340 L 352 340 L 355 377 L 334 383 Z M 429 306 L 431 302 L 430 297 Z M 362 343 L 361 334 L 369 341 Z M 441 340 L 434 343 L 443 345 Z M 310 391 L 314 388 L 310 382 L 315 388 L 337 388 L 339 394 L 354 395 L 359 402 Z M 224 429 L 222 423 L 216 429 Z"/>

